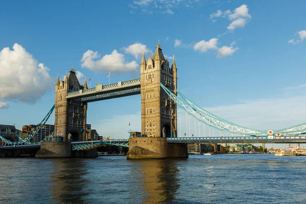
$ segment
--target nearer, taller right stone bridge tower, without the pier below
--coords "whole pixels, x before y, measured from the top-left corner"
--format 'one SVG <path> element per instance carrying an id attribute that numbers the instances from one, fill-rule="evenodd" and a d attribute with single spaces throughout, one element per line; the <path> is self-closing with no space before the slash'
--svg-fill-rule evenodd
<path id="1" fill-rule="evenodd" d="M 165 59 L 160 44 L 152 58 L 140 63 L 141 132 L 147 137 L 176 137 L 176 104 L 161 88 L 160 83 L 176 94 L 176 65 Z M 172 103 L 171 103 L 172 102 Z"/>

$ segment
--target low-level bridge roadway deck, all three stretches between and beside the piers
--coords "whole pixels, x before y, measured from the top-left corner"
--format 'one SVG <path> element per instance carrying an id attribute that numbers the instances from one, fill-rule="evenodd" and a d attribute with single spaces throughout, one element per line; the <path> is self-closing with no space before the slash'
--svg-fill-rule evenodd
<path id="1" fill-rule="evenodd" d="M 170 143 L 306 143 L 306 136 L 281 136 L 274 139 L 268 137 L 179 137 L 167 138 Z M 103 144 L 129 147 L 129 139 L 93 140 L 71 142 L 72 150 L 88 150 Z M 23 144 L 0 146 L 0 150 L 38 148 L 40 144 Z"/>

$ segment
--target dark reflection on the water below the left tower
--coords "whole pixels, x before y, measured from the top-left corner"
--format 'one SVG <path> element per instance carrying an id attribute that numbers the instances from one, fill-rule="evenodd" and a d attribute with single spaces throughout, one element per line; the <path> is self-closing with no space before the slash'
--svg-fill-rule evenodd
<path id="1" fill-rule="evenodd" d="M 90 192 L 85 190 L 88 174 L 82 159 L 54 160 L 54 171 L 50 174 L 53 200 L 57 203 L 85 203 L 83 198 Z"/>

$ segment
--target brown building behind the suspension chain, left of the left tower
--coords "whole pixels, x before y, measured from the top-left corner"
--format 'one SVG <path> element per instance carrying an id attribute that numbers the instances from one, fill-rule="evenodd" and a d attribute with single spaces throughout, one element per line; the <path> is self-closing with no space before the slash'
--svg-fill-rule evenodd
<path id="1" fill-rule="evenodd" d="M 23 125 L 20 137 L 22 138 L 27 137 L 32 131 L 34 131 L 34 129 L 37 126 L 38 124 Z M 54 131 L 53 124 L 45 124 L 30 141 L 34 143 L 39 142 L 43 140 L 46 136 L 49 136 L 53 131 Z"/>

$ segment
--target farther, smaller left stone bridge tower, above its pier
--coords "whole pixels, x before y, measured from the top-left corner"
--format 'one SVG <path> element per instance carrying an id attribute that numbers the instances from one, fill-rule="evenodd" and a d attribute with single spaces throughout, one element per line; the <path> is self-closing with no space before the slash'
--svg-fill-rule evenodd
<path id="1" fill-rule="evenodd" d="M 87 103 L 81 99 L 66 99 L 67 93 L 87 89 L 85 79 L 81 86 L 73 67 L 66 72 L 64 81 L 59 75 L 55 85 L 55 135 L 61 136 L 64 142 L 85 141 Z"/>

